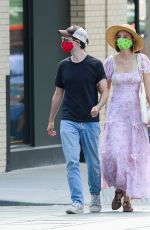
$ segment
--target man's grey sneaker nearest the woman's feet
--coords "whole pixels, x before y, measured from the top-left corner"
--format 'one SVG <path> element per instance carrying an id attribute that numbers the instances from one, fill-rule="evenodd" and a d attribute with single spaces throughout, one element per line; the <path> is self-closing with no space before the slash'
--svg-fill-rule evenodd
<path id="1" fill-rule="evenodd" d="M 100 212 L 101 211 L 101 201 L 100 195 L 91 195 L 91 203 L 90 203 L 90 212 Z"/>

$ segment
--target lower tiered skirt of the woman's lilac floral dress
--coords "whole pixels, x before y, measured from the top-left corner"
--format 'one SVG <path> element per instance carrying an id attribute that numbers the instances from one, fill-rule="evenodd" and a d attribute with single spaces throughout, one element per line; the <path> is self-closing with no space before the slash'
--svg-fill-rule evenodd
<path id="1" fill-rule="evenodd" d="M 142 123 L 106 121 L 100 144 L 102 187 L 150 197 L 150 144 Z"/>

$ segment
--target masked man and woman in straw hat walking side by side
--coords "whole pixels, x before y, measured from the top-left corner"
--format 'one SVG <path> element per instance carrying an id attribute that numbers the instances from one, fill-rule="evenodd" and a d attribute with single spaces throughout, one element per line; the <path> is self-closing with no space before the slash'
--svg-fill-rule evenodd
<path id="1" fill-rule="evenodd" d="M 59 34 L 62 49 L 71 55 L 58 65 L 47 131 L 56 135 L 54 120 L 63 103 L 60 135 L 72 200 L 66 212 L 83 212 L 80 145 L 87 163 L 90 212 L 101 211 L 101 177 L 102 187 L 116 189 L 112 209 L 123 206 L 124 212 L 132 212 L 130 199 L 150 197 L 150 144 L 138 97 L 143 74 L 150 104 L 150 60 L 139 52 L 143 40 L 128 24 L 109 27 L 106 39 L 117 52 L 102 64 L 86 54 L 89 40 L 82 27 L 73 25 Z M 99 111 L 111 85 L 113 94 L 99 141 Z"/>

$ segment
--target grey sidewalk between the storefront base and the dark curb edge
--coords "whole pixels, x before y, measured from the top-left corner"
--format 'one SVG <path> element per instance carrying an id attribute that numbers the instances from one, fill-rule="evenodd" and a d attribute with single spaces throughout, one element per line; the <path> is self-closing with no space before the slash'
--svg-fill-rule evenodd
<path id="1" fill-rule="evenodd" d="M 0 204 L 26 202 L 27 204 L 50 205 L 70 204 L 65 164 L 14 170 L 0 174 Z M 85 203 L 90 194 L 87 182 L 87 168 L 80 164 Z M 109 203 L 112 190 L 102 192 L 102 201 Z"/>

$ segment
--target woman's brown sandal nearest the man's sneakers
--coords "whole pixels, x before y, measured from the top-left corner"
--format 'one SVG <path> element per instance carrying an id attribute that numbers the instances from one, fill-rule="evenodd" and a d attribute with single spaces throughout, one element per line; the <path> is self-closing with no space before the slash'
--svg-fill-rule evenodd
<path id="1" fill-rule="evenodd" d="M 124 196 L 124 191 L 122 191 L 121 189 L 117 189 L 115 191 L 115 197 L 111 205 L 112 210 L 117 210 L 122 206 L 121 199 L 123 198 L 123 196 Z"/>

